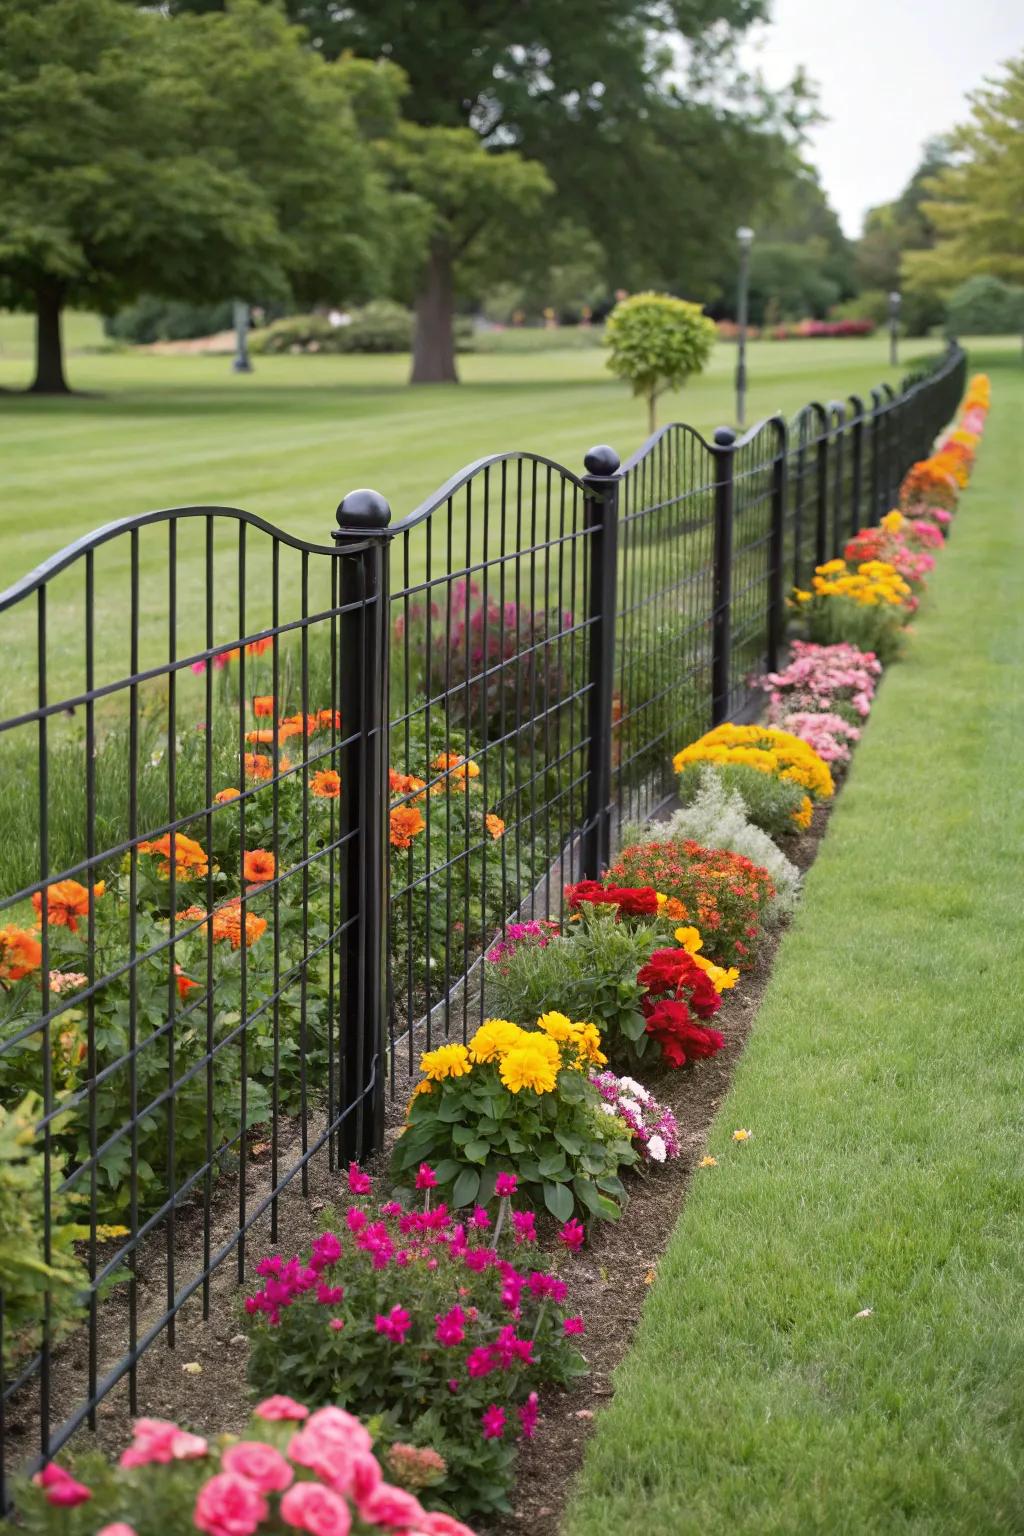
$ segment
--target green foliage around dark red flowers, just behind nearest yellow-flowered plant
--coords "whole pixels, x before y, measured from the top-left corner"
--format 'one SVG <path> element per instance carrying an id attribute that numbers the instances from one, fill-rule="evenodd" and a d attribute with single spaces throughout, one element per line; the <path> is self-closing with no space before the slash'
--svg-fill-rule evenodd
<path id="1" fill-rule="evenodd" d="M 659 943 L 668 943 L 668 931 L 619 922 L 616 914 L 585 905 L 579 923 L 565 934 L 550 937 L 543 948 L 520 942 L 493 966 L 493 1006 L 517 1021 L 548 1009 L 590 1018 L 613 1066 L 636 1064 L 649 1044 L 637 971 Z"/>

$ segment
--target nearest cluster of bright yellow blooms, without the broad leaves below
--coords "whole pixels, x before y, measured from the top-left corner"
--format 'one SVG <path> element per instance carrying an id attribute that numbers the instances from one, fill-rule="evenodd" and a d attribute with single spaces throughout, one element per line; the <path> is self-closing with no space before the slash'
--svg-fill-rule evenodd
<path id="1" fill-rule="evenodd" d="M 416 1094 L 428 1094 L 431 1083 L 465 1077 L 474 1066 L 497 1063 L 510 1094 L 524 1087 L 534 1094 L 554 1091 L 563 1066 L 583 1071 L 605 1066 L 600 1031 L 596 1025 L 573 1023 L 565 1014 L 542 1014 L 536 1029 L 522 1029 L 508 1018 L 485 1018 L 467 1046 L 438 1046 L 419 1058 L 424 1081 Z"/>

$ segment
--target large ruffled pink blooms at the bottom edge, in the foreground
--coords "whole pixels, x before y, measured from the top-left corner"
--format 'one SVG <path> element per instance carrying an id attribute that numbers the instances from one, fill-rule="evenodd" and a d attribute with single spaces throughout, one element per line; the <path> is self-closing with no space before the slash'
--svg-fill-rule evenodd
<path id="1" fill-rule="evenodd" d="M 528 1409 L 528 1404 L 524 1404 Z M 520 1419 L 522 1419 L 522 1409 Z M 385 1530 L 390 1536 L 473 1536 L 450 1514 L 424 1510 L 407 1488 L 384 1479 L 373 1455 L 373 1439 L 364 1424 L 344 1409 L 310 1413 L 293 1398 L 267 1398 L 255 1409 L 255 1424 L 247 1439 L 233 1441 L 221 1452 L 220 1465 L 203 1468 L 203 1482 L 181 1484 L 181 1498 L 195 1499 L 192 1522 L 206 1536 L 256 1536 L 258 1531 L 286 1528 L 309 1536 L 348 1536 L 359 1530 Z M 289 1430 L 295 1424 L 295 1430 Z M 493 1424 L 493 1419 L 491 1419 Z M 286 1428 L 281 1436 L 267 1425 Z M 270 1433 L 276 1439 L 258 1438 Z M 524 1424 L 524 1433 L 527 1433 Z M 405 1447 L 413 1450 L 413 1447 Z M 413 1455 L 418 1467 L 444 1470 L 436 1452 Z M 198 1464 L 209 1461 L 204 1439 L 164 1419 L 138 1419 L 132 1445 L 120 1465 L 129 1471 L 155 1464 Z M 421 1468 L 422 1470 L 422 1468 Z M 206 1473 L 210 1471 L 209 1476 Z M 48 1504 L 72 1508 L 91 1499 L 92 1490 L 51 1462 L 35 1476 Z M 129 1499 L 146 1498 L 144 1485 L 132 1485 Z M 161 1496 L 166 1496 L 166 1490 Z M 124 1490 L 118 1504 L 124 1502 Z M 135 1528 L 118 1521 L 104 1525 L 100 1536 L 135 1536 Z"/>

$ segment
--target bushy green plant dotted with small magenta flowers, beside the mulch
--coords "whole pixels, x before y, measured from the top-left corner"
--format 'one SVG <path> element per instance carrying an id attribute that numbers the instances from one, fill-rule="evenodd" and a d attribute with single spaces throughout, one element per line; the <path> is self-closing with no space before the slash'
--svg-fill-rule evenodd
<path id="1" fill-rule="evenodd" d="M 507 1510 L 519 1439 L 516 1410 L 531 1392 L 565 1387 L 586 1372 L 562 1326 L 567 1307 L 553 1299 L 551 1290 L 528 1284 L 528 1272 L 543 1273 L 542 1266 L 528 1261 L 517 1267 L 524 1250 L 519 1240 L 513 1244 L 507 1200 L 499 1217 L 502 1230 L 494 1235 L 470 1227 L 467 1247 L 456 1244 L 454 1252 L 448 1247 L 451 1218 L 427 1218 L 419 1210 L 381 1218 L 364 1206 L 348 1210 L 364 1218 L 364 1230 L 368 1217 L 376 1241 L 359 1247 L 358 1235 L 353 1241 L 338 1223 L 339 1256 L 330 1263 L 318 1256 L 322 1238 L 310 1255 L 332 1299 L 304 1290 L 279 1306 L 279 1321 L 255 1313 L 249 1353 L 253 1393 L 279 1392 L 310 1405 L 345 1407 L 372 1421 L 378 1455 L 398 1441 L 430 1447 L 444 1458 L 431 1501 L 436 1495 L 461 1514 Z M 329 1215 L 327 1224 L 332 1220 Z M 479 1267 L 467 1263 L 494 1244 L 500 1267 L 485 1258 Z M 375 1255 L 391 1258 L 396 1252 L 404 1252 L 407 1263 L 375 1264 Z M 270 1281 L 273 1270 L 267 1266 L 275 1263 L 279 1273 L 279 1260 L 259 1266 Z M 550 1283 L 563 1298 L 565 1283 L 554 1276 Z M 278 1295 L 287 1290 L 287 1279 L 276 1284 Z M 519 1298 L 514 1313 L 502 1299 L 510 1284 Z M 336 1287 L 344 1289 L 342 1296 Z M 393 1309 L 401 1309 L 408 1322 L 399 1338 L 376 1327 L 376 1319 L 390 1318 Z M 450 1332 L 439 1338 L 441 1318 L 448 1319 Z M 332 1319 L 344 1326 L 332 1329 Z M 510 1333 L 530 1346 L 520 1344 L 516 1353 Z M 476 1375 L 467 1372 L 470 1356 L 479 1362 Z M 451 1381 L 457 1381 L 457 1390 Z M 481 1418 L 491 1404 L 505 1410 L 508 1424 L 502 1436 L 485 1439 Z"/>

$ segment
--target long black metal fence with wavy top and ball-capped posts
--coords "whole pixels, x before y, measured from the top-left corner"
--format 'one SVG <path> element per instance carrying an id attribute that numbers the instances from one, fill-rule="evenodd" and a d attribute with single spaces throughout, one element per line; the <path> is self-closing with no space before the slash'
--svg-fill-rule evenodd
<path id="1" fill-rule="evenodd" d="M 494 455 L 401 522 L 353 492 L 330 545 L 147 513 L 0 596 L 8 1467 L 121 1382 L 137 1412 L 183 1309 L 381 1146 L 508 922 L 557 919 L 751 710 L 789 587 L 889 510 L 964 370 L 580 475 Z"/>

